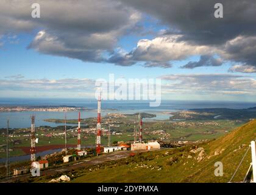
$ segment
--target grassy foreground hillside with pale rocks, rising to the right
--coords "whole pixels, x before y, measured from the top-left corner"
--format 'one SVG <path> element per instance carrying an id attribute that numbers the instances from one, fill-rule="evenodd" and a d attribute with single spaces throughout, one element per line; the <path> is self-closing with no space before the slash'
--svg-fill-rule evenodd
<path id="1" fill-rule="evenodd" d="M 229 182 L 255 137 L 256 120 L 201 145 L 144 152 L 125 160 L 84 168 L 71 182 Z M 214 174 L 216 161 L 223 164 L 222 177 Z M 232 182 L 243 181 L 250 163 L 251 151 Z"/>

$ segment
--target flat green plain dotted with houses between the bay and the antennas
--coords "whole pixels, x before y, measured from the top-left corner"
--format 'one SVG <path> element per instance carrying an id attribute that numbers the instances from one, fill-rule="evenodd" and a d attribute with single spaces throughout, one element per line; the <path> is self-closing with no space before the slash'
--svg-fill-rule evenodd
<path id="1" fill-rule="evenodd" d="M 112 143 L 115 141 L 133 141 L 133 124 L 137 119 L 136 116 L 129 115 L 126 118 L 103 118 L 102 127 L 108 129 L 108 124 L 115 124 L 112 127 L 112 132 L 121 132 L 122 135 L 112 135 Z M 83 121 L 83 120 L 82 120 Z M 96 126 L 96 119 L 90 118 L 86 120 L 87 126 L 82 127 L 83 129 L 91 128 Z M 61 121 L 62 122 L 62 121 Z M 75 122 L 75 120 L 70 120 L 69 122 Z M 182 122 L 171 122 L 171 121 L 151 121 L 143 123 L 143 140 L 163 140 L 163 141 L 196 141 L 196 140 L 212 140 L 222 135 L 226 135 L 235 127 L 241 126 L 243 121 L 229 121 L 229 120 L 205 120 L 205 121 L 182 121 Z M 85 124 L 85 122 L 84 122 Z M 116 125 L 118 124 L 118 125 Z M 73 129 L 74 127 L 68 127 L 68 129 Z M 155 133 L 158 130 L 164 130 L 164 133 Z M 39 139 L 36 146 L 45 145 L 55 145 L 64 144 L 64 135 L 46 137 L 48 133 L 63 133 L 64 127 L 37 127 L 36 137 Z M 30 129 L 16 129 L 15 135 L 18 137 L 10 137 L 10 157 L 17 155 L 24 155 L 24 152 L 20 147 L 30 146 L 29 137 L 24 137 L 28 135 Z M 41 134 L 44 134 L 43 136 Z M 76 132 L 68 132 L 68 144 L 76 144 L 77 137 Z M 82 146 L 94 146 L 95 135 L 91 133 L 81 134 Z M 0 158 L 5 157 L 4 145 L 6 142 L 6 137 L 4 134 L 0 136 Z M 20 140 L 19 144 L 13 144 L 13 141 Z M 106 145 L 108 142 L 107 136 L 102 136 L 102 144 Z"/>

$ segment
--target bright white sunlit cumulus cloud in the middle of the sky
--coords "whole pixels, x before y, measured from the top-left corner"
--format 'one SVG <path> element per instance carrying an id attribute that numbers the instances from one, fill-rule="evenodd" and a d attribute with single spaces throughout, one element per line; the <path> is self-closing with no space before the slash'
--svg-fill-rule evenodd
<path id="1" fill-rule="evenodd" d="M 137 62 L 146 62 L 145 66 L 171 67 L 171 60 L 184 60 L 190 55 L 210 54 L 214 49 L 208 46 L 189 44 L 186 41 L 178 41 L 182 35 L 169 35 L 157 37 L 152 40 L 138 41 L 137 48 L 129 53 L 117 53 L 110 57 L 111 63 L 117 65 L 132 65 Z M 163 66 L 164 65 L 164 66 Z M 167 65 L 167 66 L 166 66 Z"/>

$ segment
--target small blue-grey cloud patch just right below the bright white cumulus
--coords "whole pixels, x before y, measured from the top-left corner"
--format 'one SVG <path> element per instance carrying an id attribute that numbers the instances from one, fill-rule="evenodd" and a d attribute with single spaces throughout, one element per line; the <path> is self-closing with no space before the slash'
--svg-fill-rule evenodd
<path id="1" fill-rule="evenodd" d="M 182 66 L 182 68 L 196 68 L 201 66 L 221 66 L 222 60 L 216 59 L 211 55 L 201 55 L 200 60 L 198 62 L 188 62 L 187 65 Z"/>

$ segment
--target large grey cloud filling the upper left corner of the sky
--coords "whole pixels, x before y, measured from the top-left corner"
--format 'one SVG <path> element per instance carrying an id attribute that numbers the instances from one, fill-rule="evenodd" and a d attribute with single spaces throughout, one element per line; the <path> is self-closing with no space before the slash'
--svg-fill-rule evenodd
<path id="1" fill-rule="evenodd" d="M 140 13 L 112 0 L 37 1 L 41 18 L 30 16 L 34 1 L 1 1 L 0 34 L 41 29 L 29 48 L 90 62 L 102 62 L 118 38 L 133 29 Z"/>

